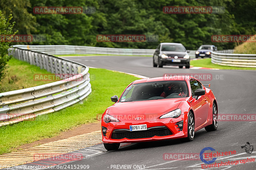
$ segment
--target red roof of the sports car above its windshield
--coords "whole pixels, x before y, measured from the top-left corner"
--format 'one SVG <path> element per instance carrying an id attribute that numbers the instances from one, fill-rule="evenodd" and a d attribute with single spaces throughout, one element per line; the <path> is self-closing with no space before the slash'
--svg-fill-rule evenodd
<path id="1" fill-rule="evenodd" d="M 184 80 L 188 81 L 190 78 L 196 79 L 195 77 L 188 76 L 188 75 L 177 75 L 177 76 L 165 76 L 165 77 L 140 79 L 140 80 L 133 81 L 132 84 L 152 82 L 152 81 L 184 81 Z"/>

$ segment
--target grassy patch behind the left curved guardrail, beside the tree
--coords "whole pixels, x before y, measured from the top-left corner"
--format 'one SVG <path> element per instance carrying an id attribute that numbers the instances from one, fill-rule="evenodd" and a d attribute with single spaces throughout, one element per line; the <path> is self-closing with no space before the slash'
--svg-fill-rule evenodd
<path id="1" fill-rule="evenodd" d="M 12 58 L 7 63 L 6 76 L 0 82 L 0 93 L 39 86 L 53 81 L 34 81 L 34 74 L 52 74 L 45 69 Z"/>

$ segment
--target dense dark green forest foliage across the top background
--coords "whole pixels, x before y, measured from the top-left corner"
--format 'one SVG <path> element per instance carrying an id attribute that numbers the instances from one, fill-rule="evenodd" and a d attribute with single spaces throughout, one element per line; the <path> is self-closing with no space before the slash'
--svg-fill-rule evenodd
<path id="1" fill-rule="evenodd" d="M 7 3 L 8 2 L 8 3 Z M 94 6 L 94 14 L 34 14 L 35 6 Z M 164 14 L 164 6 L 224 6 L 223 14 Z M 0 10 L 13 14 L 19 34 L 44 34 L 33 44 L 156 48 L 179 42 L 195 50 L 202 44 L 218 49 L 236 43 L 212 43 L 216 34 L 255 34 L 256 0 L 1 0 Z M 158 42 L 97 42 L 98 34 L 158 35 Z M 28 43 L 32 44 L 32 43 Z"/>

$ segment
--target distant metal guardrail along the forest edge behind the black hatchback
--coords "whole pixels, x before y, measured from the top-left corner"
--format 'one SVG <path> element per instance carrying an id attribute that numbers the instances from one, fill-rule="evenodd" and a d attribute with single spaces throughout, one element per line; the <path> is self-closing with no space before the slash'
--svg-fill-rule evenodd
<path id="1" fill-rule="evenodd" d="M 129 49 L 129 48 L 108 48 L 93 46 L 69 46 L 69 45 L 14 45 L 22 49 L 47 53 L 50 55 L 61 54 L 111 54 L 111 55 L 149 55 L 153 56 L 155 49 Z M 195 50 L 191 50 L 190 57 L 195 57 Z"/>

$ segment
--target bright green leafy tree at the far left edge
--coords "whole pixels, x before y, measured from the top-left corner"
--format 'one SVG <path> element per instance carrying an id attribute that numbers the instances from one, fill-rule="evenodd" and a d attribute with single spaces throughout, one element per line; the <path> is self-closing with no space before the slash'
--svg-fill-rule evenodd
<path id="1" fill-rule="evenodd" d="M 5 65 L 7 62 L 11 59 L 12 56 L 8 55 L 8 48 L 11 43 L 11 41 L 6 41 L 4 35 L 14 35 L 16 32 L 12 32 L 13 26 L 15 22 L 12 24 L 10 23 L 10 20 L 12 19 L 12 14 L 9 15 L 9 17 L 6 19 L 3 12 L 0 11 L 0 80 L 4 77 L 5 72 Z"/>

